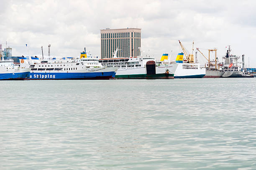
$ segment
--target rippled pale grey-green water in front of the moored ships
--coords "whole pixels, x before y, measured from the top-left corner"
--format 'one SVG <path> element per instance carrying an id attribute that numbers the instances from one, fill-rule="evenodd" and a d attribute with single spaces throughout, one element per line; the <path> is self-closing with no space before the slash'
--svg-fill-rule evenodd
<path id="1" fill-rule="evenodd" d="M 255 84 L 0 81 L 0 170 L 255 170 Z"/>

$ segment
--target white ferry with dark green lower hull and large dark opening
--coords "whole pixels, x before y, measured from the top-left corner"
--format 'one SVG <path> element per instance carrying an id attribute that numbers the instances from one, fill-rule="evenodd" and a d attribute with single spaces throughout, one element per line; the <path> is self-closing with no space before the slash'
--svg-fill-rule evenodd
<path id="1" fill-rule="evenodd" d="M 177 68 L 174 64 L 156 66 L 156 59 L 151 56 L 136 56 L 130 58 L 117 58 L 117 51 L 113 58 L 102 58 L 102 66 L 118 67 L 116 79 L 174 79 Z"/>

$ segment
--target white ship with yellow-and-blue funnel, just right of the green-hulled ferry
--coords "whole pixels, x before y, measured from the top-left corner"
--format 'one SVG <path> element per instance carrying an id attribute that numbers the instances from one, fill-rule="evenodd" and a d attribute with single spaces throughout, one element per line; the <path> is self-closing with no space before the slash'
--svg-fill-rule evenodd
<path id="1" fill-rule="evenodd" d="M 174 72 L 175 79 L 181 78 L 202 78 L 206 74 L 205 68 L 200 68 L 199 63 L 186 63 L 183 59 L 184 53 L 178 53 L 176 61 L 171 61 L 170 64 L 176 65 Z M 159 64 L 164 64 L 163 61 Z"/>

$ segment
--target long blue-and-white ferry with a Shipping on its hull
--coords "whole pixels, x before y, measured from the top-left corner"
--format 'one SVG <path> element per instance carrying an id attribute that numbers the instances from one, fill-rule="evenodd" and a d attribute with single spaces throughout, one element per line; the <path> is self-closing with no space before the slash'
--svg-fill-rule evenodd
<path id="1" fill-rule="evenodd" d="M 98 58 L 87 57 L 85 48 L 80 58 L 19 57 L 20 67 L 31 68 L 29 79 L 111 79 L 117 67 L 102 67 Z"/>

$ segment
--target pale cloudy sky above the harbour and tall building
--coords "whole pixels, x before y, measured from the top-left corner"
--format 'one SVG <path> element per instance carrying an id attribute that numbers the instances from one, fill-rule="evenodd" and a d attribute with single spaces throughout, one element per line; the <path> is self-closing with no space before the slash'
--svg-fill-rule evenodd
<path id="1" fill-rule="evenodd" d="M 217 48 L 221 60 L 230 45 L 256 67 L 255 0 L 1 0 L 0 43 L 13 56 L 79 56 L 86 47 L 100 56 L 100 29 L 141 28 L 141 47 L 156 59 L 182 49 L 207 55 Z M 28 50 L 26 45 L 28 44 Z M 212 56 L 212 54 L 211 54 Z M 202 55 L 198 61 L 207 62 Z"/>

